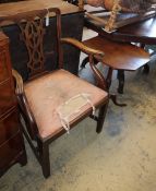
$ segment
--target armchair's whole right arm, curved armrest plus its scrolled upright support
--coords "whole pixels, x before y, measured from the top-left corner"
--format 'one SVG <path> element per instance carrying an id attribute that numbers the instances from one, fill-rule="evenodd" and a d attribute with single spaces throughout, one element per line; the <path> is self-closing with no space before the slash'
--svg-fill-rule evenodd
<path id="1" fill-rule="evenodd" d="M 100 60 L 105 53 L 100 50 L 89 48 L 86 45 L 84 45 L 83 43 L 81 43 L 76 39 L 73 39 L 73 38 L 61 38 L 61 43 L 71 44 L 71 45 L 75 46 L 76 48 L 81 49 L 81 51 L 88 55 L 89 65 L 91 65 L 91 69 L 95 75 L 97 86 L 99 88 L 103 88 L 104 91 L 108 91 L 107 83 L 106 83 L 104 75 L 100 73 L 100 71 L 96 68 L 96 65 L 94 63 L 95 56 L 98 56 L 98 58 Z"/>

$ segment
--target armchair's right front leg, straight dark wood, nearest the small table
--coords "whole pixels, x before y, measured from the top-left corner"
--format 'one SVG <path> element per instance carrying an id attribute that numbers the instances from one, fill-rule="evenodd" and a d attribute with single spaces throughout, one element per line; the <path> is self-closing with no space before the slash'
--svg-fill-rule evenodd
<path id="1" fill-rule="evenodd" d="M 108 103 L 109 103 L 109 100 L 107 100 L 107 103 L 99 109 L 97 127 L 96 127 L 97 133 L 100 133 L 103 130 L 103 124 L 105 121 L 105 117 L 106 117 L 106 112 L 107 112 L 107 108 L 108 108 Z"/>

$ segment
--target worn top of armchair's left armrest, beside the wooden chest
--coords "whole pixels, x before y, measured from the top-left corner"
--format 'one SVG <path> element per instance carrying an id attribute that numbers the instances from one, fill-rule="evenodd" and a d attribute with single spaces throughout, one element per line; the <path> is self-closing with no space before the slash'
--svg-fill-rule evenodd
<path id="1" fill-rule="evenodd" d="M 15 80 L 15 93 L 19 94 L 19 95 L 23 94 L 23 79 L 22 79 L 22 76 L 14 69 L 12 69 L 12 75 Z"/>

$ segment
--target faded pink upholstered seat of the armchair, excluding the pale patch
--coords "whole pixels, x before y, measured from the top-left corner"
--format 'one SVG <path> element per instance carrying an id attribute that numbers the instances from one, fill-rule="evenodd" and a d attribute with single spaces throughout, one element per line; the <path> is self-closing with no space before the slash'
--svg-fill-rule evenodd
<path id="1" fill-rule="evenodd" d="M 43 139 L 52 136 L 62 130 L 56 109 L 69 98 L 81 93 L 87 93 L 91 94 L 94 106 L 98 106 L 108 96 L 103 89 L 64 70 L 55 71 L 26 83 L 24 91 L 36 120 L 39 135 Z M 77 120 L 91 109 L 91 105 L 86 104 L 70 122 Z"/>

